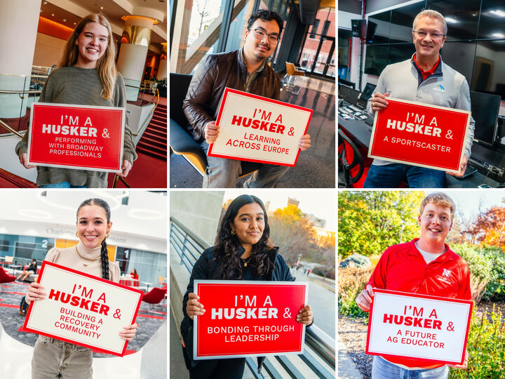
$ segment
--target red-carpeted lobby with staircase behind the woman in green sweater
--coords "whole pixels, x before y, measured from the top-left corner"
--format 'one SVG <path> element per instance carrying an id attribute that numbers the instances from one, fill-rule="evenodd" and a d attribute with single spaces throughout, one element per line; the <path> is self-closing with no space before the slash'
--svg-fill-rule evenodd
<path id="1" fill-rule="evenodd" d="M 36 169 L 20 164 L 15 146 L 76 25 L 95 13 L 105 15 L 112 29 L 115 63 L 126 86 L 131 133 L 125 133 L 137 154 L 128 176 L 109 172 L 107 186 L 166 188 L 168 20 L 167 3 L 158 0 L 0 2 L 0 187 L 36 187 Z M 90 99 L 81 105 L 97 105 Z"/>

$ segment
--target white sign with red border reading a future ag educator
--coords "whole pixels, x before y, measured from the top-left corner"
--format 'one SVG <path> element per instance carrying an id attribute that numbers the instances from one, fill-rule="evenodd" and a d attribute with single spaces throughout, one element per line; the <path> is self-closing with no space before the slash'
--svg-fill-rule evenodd
<path id="1" fill-rule="evenodd" d="M 471 300 L 374 288 L 366 353 L 463 364 Z M 422 362 L 422 363 L 421 363 Z"/>

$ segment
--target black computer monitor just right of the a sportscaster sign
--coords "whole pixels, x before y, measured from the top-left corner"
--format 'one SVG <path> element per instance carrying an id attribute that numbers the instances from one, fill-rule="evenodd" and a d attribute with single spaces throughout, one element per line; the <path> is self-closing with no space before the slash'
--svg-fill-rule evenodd
<path id="1" fill-rule="evenodd" d="M 471 112 L 476 122 L 473 139 L 492 146 L 497 135 L 501 96 L 470 91 Z"/>

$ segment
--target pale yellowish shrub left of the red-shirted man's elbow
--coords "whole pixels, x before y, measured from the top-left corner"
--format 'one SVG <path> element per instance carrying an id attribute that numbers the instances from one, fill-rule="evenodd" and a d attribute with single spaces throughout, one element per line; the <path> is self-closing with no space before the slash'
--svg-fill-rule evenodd
<path id="1" fill-rule="evenodd" d="M 370 279 L 371 270 L 349 267 L 338 270 L 338 311 L 349 317 L 368 317 L 356 304 L 356 298 Z"/>

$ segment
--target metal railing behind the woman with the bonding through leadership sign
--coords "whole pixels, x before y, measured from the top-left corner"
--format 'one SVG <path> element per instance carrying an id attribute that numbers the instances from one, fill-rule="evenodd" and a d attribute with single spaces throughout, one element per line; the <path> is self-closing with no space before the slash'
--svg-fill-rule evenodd
<path id="1" fill-rule="evenodd" d="M 191 249 L 187 244 L 190 244 L 192 248 L 196 248 L 199 253 L 211 246 L 207 241 L 198 237 L 198 235 L 189 230 L 188 227 L 174 217 L 170 217 L 170 244 L 175 248 L 177 255 L 179 255 L 181 259 L 180 264 L 184 264 L 189 273 L 191 273 L 194 262 L 198 259 L 198 256 L 191 254 Z M 335 340 L 333 338 L 322 331 L 321 328 L 312 325 L 310 328 L 305 329 L 305 343 L 311 347 L 311 349 L 318 354 L 318 357 L 323 359 L 326 364 L 335 368 Z M 307 350 L 304 354 L 299 354 L 299 357 L 312 371 L 314 371 L 318 378 L 334 378 L 333 374 L 323 367 L 318 359 L 313 357 Z M 297 368 L 290 363 L 288 358 L 276 356 L 275 359 L 277 359 L 281 366 L 290 373 L 292 378 L 304 378 Z M 247 358 L 245 361 L 251 368 L 255 378 L 264 378 L 261 373 L 256 372 L 257 370 L 255 370 L 255 368 L 257 368 L 257 364 L 254 359 Z M 269 362 L 268 358 L 264 361 L 264 368 L 272 378 L 281 378 L 281 375 L 276 368 L 274 368 L 274 365 Z"/>

